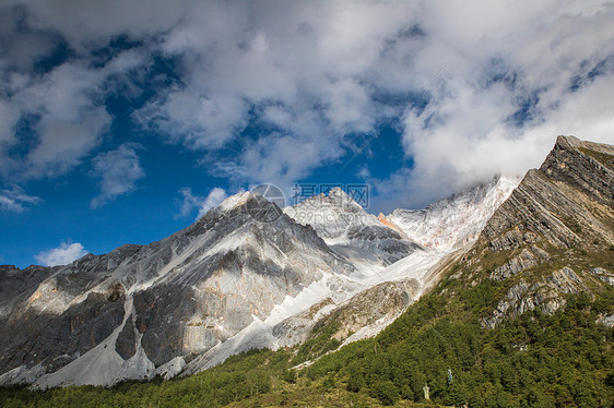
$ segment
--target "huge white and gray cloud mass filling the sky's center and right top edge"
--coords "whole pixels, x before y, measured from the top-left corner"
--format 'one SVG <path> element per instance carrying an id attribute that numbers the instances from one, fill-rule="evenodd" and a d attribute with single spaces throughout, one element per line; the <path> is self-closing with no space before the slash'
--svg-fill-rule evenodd
<path id="1" fill-rule="evenodd" d="M 581 97 L 571 88 L 614 72 L 603 62 L 614 55 L 610 3 L 354 5 L 217 5 L 190 13 L 168 33 L 163 50 L 181 56 L 189 94 L 199 89 L 232 106 L 227 122 L 238 131 L 255 111 L 263 129 L 272 128 L 246 143 L 238 159 L 220 161 L 223 172 L 287 187 L 343 160 L 344 135 L 373 132 L 408 104 L 400 125 L 413 168 L 379 180 L 378 191 L 398 191 L 388 199 L 420 205 L 539 165 L 555 136 L 571 132 L 559 121 L 586 115 L 560 113 Z M 426 107 L 414 106 L 416 95 Z M 211 107 L 201 104 L 194 115 L 196 108 L 180 108 L 187 99 L 176 100 L 149 107 L 170 124 L 168 133 L 194 147 L 233 137 L 222 120 L 211 129 Z M 605 109 L 595 104 L 595 111 Z"/>

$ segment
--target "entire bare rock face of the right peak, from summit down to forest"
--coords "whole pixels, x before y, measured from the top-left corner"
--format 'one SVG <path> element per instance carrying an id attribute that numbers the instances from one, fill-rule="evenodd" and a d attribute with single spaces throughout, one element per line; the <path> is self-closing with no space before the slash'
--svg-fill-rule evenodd
<path id="1" fill-rule="evenodd" d="M 613 164 L 613 146 L 559 136 L 495 212 L 465 262 L 487 269 L 498 260 L 489 278 L 508 284 L 486 326 L 538 308 L 554 313 L 568 293 L 612 285 Z"/>

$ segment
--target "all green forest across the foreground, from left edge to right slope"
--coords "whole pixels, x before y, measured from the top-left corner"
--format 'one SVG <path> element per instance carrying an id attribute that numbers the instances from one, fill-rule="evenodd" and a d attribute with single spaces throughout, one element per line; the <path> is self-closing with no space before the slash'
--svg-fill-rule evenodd
<path id="1" fill-rule="evenodd" d="M 614 328 L 595 321 L 614 313 L 614 288 L 589 277 L 590 293 L 599 295 L 565 295 L 566 305 L 553 315 L 535 310 L 494 329 L 481 324 L 519 279 L 533 283 L 566 265 L 581 272 L 612 262 L 612 247 L 602 242 L 544 248 L 550 261 L 503 281 L 487 277 L 522 248 L 476 248 L 376 338 L 334 352 L 341 343 L 331 321 L 294 350 L 249 351 L 192 376 L 113 388 L 0 389 L 0 406 L 612 407 Z M 293 369 L 308 360 L 316 361 Z"/>

